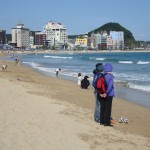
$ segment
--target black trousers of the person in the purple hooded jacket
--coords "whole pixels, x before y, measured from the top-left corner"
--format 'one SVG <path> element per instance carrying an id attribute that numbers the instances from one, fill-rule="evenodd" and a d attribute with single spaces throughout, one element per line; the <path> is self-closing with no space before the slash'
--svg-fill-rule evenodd
<path id="1" fill-rule="evenodd" d="M 100 122 L 102 124 L 110 124 L 112 100 L 113 97 L 100 98 Z"/>

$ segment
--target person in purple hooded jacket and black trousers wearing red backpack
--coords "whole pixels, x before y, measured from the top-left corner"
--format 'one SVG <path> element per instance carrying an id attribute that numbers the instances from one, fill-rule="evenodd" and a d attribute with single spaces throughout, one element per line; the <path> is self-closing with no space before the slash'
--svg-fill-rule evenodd
<path id="1" fill-rule="evenodd" d="M 99 99 L 101 104 L 100 109 L 100 124 L 104 126 L 113 126 L 111 124 L 111 109 L 112 100 L 114 95 L 114 81 L 112 74 L 113 66 L 109 63 L 104 65 L 105 81 L 106 81 L 106 92 L 100 93 Z"/>

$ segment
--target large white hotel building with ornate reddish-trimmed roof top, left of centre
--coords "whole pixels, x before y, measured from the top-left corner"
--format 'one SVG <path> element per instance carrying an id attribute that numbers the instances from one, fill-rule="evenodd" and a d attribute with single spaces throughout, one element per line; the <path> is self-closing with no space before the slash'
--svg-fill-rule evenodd
<path id="1" fill-rule="evenodd" d="M 43 32 L 46 34 L 48 47 L 65 49 L 67 43 L 67 31 L 65 25 L 50 21 L 44 25 Z"/>

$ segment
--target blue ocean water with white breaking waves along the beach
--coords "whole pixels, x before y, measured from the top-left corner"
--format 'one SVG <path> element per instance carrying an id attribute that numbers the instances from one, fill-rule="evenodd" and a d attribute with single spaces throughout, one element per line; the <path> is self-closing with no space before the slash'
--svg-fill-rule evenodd
<path id="1" fill-rule="evenodd" d="M 92 82 L 95 64 L 111 63 L 116 97 L 150 107 L 150 52 L 18 54 L 7 59 L 14 61 L 16 57 L 47 76 L 55 77 L 55 69 L 61 68 L 60 77 L 74 81 L 80 72 Z"/>

